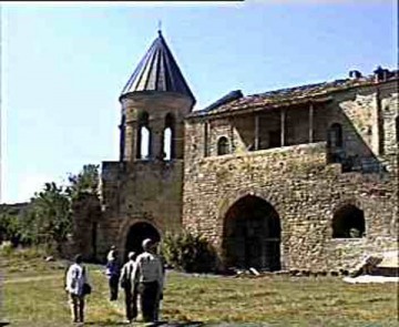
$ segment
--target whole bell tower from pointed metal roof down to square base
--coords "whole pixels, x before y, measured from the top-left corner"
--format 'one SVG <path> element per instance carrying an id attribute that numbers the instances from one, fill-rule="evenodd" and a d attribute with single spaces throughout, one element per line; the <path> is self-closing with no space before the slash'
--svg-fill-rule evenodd
<path id="1" fill-rule="evenodd" d="M 119 100 L 120 159 L 103 164 L 102 231 L 126 256 L 182 227 L 184 119 L 195 99 L 161 31 Z"/>

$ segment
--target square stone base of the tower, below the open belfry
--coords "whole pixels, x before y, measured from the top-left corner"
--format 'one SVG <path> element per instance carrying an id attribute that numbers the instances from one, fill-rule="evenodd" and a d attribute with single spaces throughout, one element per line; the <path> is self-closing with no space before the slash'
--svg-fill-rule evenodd
<path id="1" fill-rule="evenodd" d="M 127 233 L 136 223 L 147 223 L 161 235 L 181 228 L 181 160 L 106 163 L 104 171 L 103 213 L 98 236 L 100 257 L 112 244 L 124 255 Z"/>

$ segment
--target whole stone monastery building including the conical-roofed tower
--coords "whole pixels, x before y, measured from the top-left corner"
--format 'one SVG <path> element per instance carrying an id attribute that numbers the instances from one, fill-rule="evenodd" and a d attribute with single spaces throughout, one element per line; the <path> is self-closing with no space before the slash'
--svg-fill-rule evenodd
<path id="1" fill-rule="evenodd" d="M 351 268 L 398 242 L 398 71 L 254 95 L 200 111 L 158 33 L 120 96 L 120 159 L 79 251 L 202 233 L 223 267 Z"/>

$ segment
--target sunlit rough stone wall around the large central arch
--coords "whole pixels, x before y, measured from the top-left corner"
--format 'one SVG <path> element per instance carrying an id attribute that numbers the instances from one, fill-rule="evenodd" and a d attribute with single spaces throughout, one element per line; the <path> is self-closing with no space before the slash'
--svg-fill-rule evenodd
<path id="1" fill-rule="evenodd" d="M 360 159 L 358 172 L 341 173 L 340 164 L 327 164 L 325 142 L 204 157 L 204 120 L 187 121 L 183 225 L 205 234 L 219 248 L 227 210 L 254 194 L 279 215 L 283 269 L 352 268 L 358 263 L 354 258 L 362 254 L 396 248 L 398 145 L 391 120 L 398 115 L 398 105 L 397 93 L 389 88 L 380 88 L 382 110 L 389 108 L 382 116 L 374 88 L 335 94 L 326 114 L 318 115 L 323 123 L 316 135 L 323 135 L 320 126 L 342 124 L 348 154 Z M 231 131 L 227 121 L 212 122 L 217 127 L 208 147 L 214 149 L 217 133 Z M 376 141 L 376 133 L 383 137 Z M 348 203 L 364 211 L 366 237 L 332 238 L 334 213 Z"/>

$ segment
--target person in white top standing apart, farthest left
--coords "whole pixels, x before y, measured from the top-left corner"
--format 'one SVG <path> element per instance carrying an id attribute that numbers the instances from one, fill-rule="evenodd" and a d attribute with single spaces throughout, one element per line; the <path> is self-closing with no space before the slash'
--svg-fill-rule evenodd
<path id="1" fill-rule="evenodd" d="M 78 254 L 66 272 L 65 290 L 69 294 L 69 304 L 73 323 L 84 321 L 83 285 L 88 283 L 88 273 L 82 265 L 82 256 Z"/>

